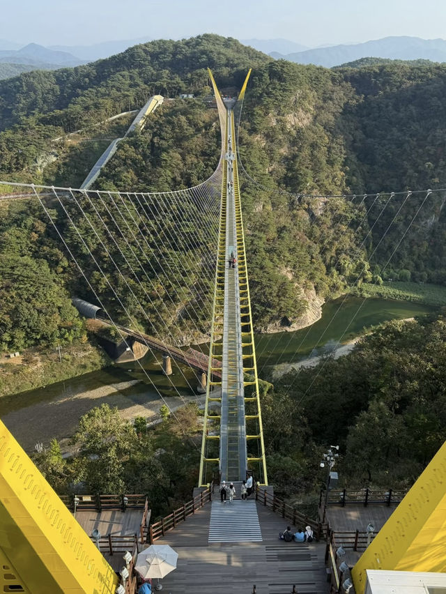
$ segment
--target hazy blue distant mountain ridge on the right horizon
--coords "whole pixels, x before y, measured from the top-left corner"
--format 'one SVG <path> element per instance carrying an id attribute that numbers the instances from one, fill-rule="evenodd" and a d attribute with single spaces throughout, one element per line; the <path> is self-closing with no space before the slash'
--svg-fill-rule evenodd
<path id="1" fill-rule="evenodd" d="M 446 40 L 408 36 L 385 37 L 365 43 L 319 47 L 315 50 L 293 52 L 286 55 L 270 52 L 270 56 L 275 59 L 282 58 L 300 64 L 316 64 L 316 66 L 325 66 L 326 68 L 366 57 L 445 62 Z"/>

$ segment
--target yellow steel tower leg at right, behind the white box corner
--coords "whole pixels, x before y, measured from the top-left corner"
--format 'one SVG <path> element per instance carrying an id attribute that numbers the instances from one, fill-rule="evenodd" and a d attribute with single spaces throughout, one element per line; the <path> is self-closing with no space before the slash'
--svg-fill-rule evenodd
<path id="1" fill-rule="evenodd" d="M 446 442 L 352 570 L 356 594 L 365 570 L 446 572 Z"/>

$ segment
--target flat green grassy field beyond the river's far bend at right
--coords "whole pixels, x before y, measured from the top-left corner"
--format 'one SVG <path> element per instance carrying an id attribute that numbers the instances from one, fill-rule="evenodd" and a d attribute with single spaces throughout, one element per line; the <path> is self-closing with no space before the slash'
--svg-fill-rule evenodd
<path id="1" fill-rule="evenodd" d="M 397 281 L 385 282 L 381 285 L 364 283 L 359 289 L 352 289 L 351 294 L 361 297 L 413 301 L 434 307 L 446 305 L 446 287 L 440 284 Z"/>

